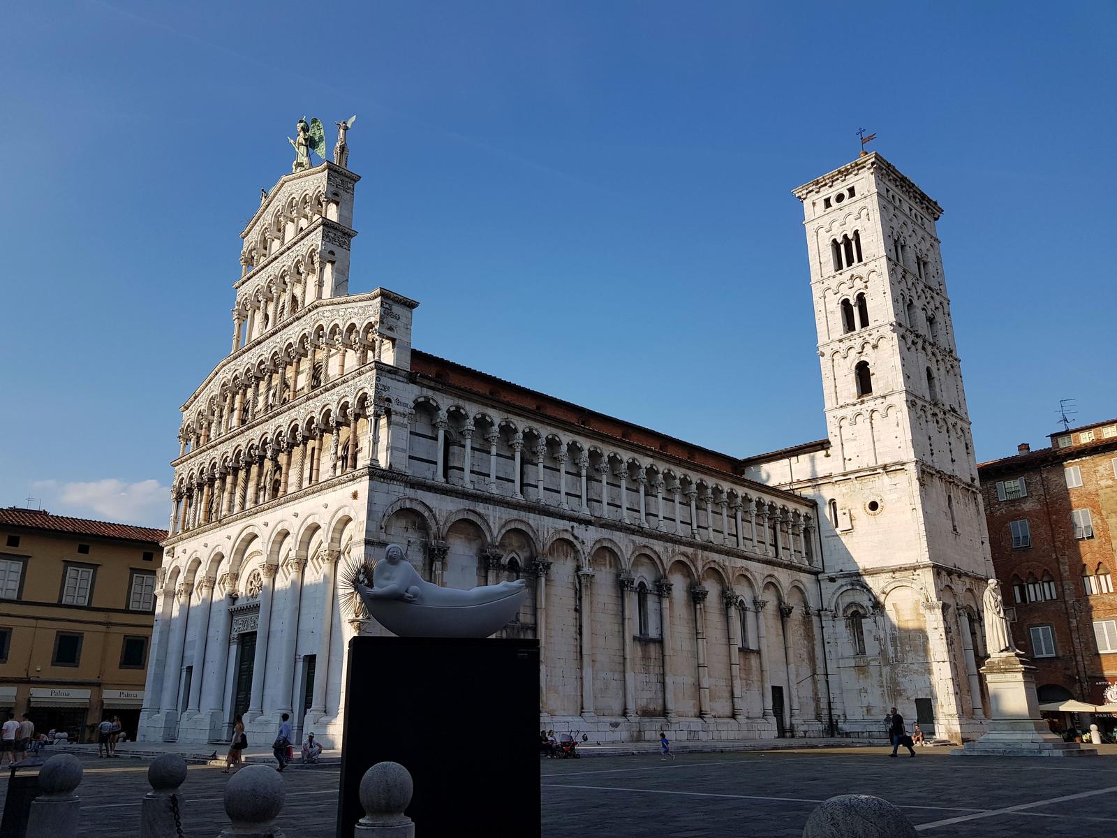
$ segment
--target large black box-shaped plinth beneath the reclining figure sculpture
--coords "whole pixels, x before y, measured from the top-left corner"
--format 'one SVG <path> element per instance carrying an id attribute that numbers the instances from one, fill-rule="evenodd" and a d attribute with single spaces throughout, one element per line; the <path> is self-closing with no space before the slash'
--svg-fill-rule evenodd
<path id="1" fill-rule="evenodd" d="M 540 835 L 537 640 L 350 640 L 337 836 L 363 816 L 364 772 L 411 772 L 424 836 Z"/>

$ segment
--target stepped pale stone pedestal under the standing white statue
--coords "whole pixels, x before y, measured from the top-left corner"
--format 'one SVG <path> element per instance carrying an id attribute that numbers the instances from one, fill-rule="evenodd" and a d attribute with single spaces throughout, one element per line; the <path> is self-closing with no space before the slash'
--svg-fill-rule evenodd
<path id="1" fill-rule="evenodd" d="M 956 756 L 1096 756 L 1097 751 L 1063 742 L 1040 716 L 1035 667 L 1019 653 L 995 655 L 981 668 L 989 687 L 987 733 L 951 751 Z"/>

